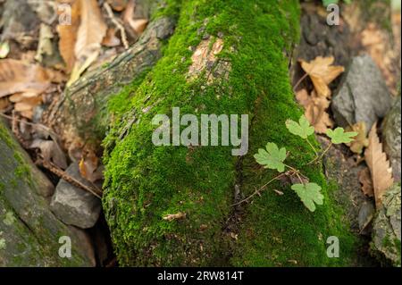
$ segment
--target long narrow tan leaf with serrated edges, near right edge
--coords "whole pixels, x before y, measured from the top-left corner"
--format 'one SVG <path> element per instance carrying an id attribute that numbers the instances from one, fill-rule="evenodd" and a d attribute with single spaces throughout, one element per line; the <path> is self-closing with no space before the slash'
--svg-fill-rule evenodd
<path id="1" fill-rule="evenodd" d="M 369 146 L 364 151 L 364 159 L 372 174 L 375 205 L 379 208 L 382 196 L 392 186 L 394 180 L 392 168 L 387 160 L 387 155 L 382 151 L 382 144 L 377 135 L 377 123 L 374 123 L 370 130 Z"/>

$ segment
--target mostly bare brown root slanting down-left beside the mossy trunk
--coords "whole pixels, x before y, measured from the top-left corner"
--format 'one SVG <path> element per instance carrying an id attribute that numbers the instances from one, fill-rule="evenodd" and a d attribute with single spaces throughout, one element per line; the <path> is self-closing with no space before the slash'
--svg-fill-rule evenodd
<path id="1" fill-rule="evenodd" d="M 131 82 L 144 78 L 162 56 L 163 42 L 172 35 L 174 26 L 173 15 L 157 17 L 129 50 L 66 88 L 46 118 L 65 145 L 71 141 L 100 145 L 111 121 L 109 100 Z"/>

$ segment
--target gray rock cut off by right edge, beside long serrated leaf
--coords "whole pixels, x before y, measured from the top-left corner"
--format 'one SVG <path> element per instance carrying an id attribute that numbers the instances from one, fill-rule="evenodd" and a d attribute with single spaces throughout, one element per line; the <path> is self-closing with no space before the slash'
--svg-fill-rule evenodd
<path id="1" fill-rule="evenodd" d="M 383 122 L 382 138 L 384 150 L 389 156 L 394 179 L 400 182 L 400 152 L 401 152 L 401 98 L 398 96 Z"/>

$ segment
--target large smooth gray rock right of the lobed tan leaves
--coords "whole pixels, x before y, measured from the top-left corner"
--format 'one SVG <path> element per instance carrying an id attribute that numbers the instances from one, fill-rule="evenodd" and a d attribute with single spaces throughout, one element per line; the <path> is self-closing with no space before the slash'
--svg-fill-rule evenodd
<path id="1" fill-rule="evenodd" d="M 354 57 L 332 98 L 335 122 L 344 128 L 365 122 L 368 131 L 391 105 L 392 96 L 373 59 L 369 55 Z"/>

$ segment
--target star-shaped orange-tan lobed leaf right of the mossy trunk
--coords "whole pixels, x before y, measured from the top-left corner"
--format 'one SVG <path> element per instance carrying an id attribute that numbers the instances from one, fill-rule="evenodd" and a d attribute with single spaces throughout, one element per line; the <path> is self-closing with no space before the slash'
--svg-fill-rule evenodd
<path id="1" fill-rule="evenodd" d="M 315 92 L 318 96 L 331 97 L 331 89 L 328 85 L 335 80 L 340 73 L 345 71 L 343 66 L 331 66 L 334 61 L 333 56 L 318 56 L 310 63 L 300 60 L 303 70 L 306 71 L 313 81 Z"/>

